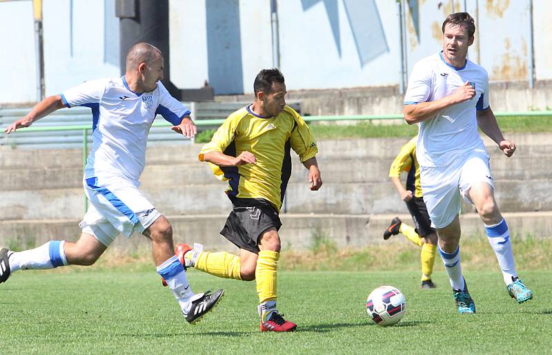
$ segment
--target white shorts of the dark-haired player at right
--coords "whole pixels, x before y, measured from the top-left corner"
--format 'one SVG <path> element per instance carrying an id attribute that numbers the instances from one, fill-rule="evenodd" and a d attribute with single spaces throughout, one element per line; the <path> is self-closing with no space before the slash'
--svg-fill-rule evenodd
<path id="1" fill-rule="evenodd" d="M 453 222 L 460 213 L 462 198 L 473 204 L 468 191 L 475 182 L 486 182 L 495 188 L 486 153 L 474 153 L 447 166 L 420 166 L 420 182 L 433 228 L 444 228 Z"/>

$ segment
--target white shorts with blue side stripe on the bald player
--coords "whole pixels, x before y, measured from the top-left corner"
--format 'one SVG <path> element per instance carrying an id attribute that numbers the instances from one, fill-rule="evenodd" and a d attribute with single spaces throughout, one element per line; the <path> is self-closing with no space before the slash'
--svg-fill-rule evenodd
<path id="1" fill-rule="evenodd" d="M 130 238 L 132 232 L 144 232 L 161 216 L 137 186 L 127 180 L 98 184 L 97 178 L 89 178 L 83 184 L 90 205 L 79 227 L 106 247 L 119 233 Z"/>

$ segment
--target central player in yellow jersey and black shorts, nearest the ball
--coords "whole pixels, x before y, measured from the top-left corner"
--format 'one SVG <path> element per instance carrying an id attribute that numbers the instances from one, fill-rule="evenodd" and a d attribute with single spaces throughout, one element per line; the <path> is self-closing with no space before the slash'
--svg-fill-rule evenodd
<path id="1" fill-rule="evenodd" d="M 233 211 L 221 234 L 240 249 L 210 253 L 201 244 L 177 246 L 186 267 L 235 280 L 256 280 L 261 332 L 290 332 L 297 325 L 284 320 L 276 307 L 276 273 L 282 242 L 279 211 L 291 174 L 290 149 L 308 169 L 309 189 L 322 186 L 316 161 L 318 148 L 311 131 L 293 108 L 286 106 L 284 76 L 265 69 L 255 78 L 255 101 L 232 113 L 199 154 L 215 175 L 228 180 L 226 194 Z M 293 196 L 288 196 L 293 198 Z"/>

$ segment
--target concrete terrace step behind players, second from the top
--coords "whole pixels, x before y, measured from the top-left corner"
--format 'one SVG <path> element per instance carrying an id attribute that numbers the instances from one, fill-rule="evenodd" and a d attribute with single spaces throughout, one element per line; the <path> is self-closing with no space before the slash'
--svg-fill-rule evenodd
<path id="1" fill-rule="evenodd" d="M 319 162 L 322 179 L 331 182 L 383 182 L 391 184 L 388 173 L 390 160 L 373 158 L 369 160 L 325 160 Z M 540 180 L 549 173 L 552 155 L 508 159 L 497 157 L 491 160 L 495 181 Z M 81 166 L 57 166 L 39 168 L 6 169 L 0 172 L 0 186 L 10 190 L 61 189 L 82 186 Z M 39 177 L 39 178 L 37 178 Z M 305 182 L 308 171 L 298 161 L 293 163 L 290 182 Z M 406 176 L 403 176 L 406 180 Z M 141 186 L 172 186 L 217 182 L 208 164 L 189 162 L 181 164 L 149 164 L 141 176 Z"/>

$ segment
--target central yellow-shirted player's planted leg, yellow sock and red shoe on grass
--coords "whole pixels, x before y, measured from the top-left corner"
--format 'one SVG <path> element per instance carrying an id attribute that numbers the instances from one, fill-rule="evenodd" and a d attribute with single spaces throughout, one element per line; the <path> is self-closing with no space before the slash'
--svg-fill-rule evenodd
<path id="1" fill-rule="evenodd" d="M 277 265 L 279 251 L 282 247 L 275 227 L 270 227 L 259 236 L 259 258 L 255 269 L 257 294 L 259 295 L 259 316 L 261 332 L 293 332 L 297 325 L 285 320 L 278 313 L 277 299 Z"/>

